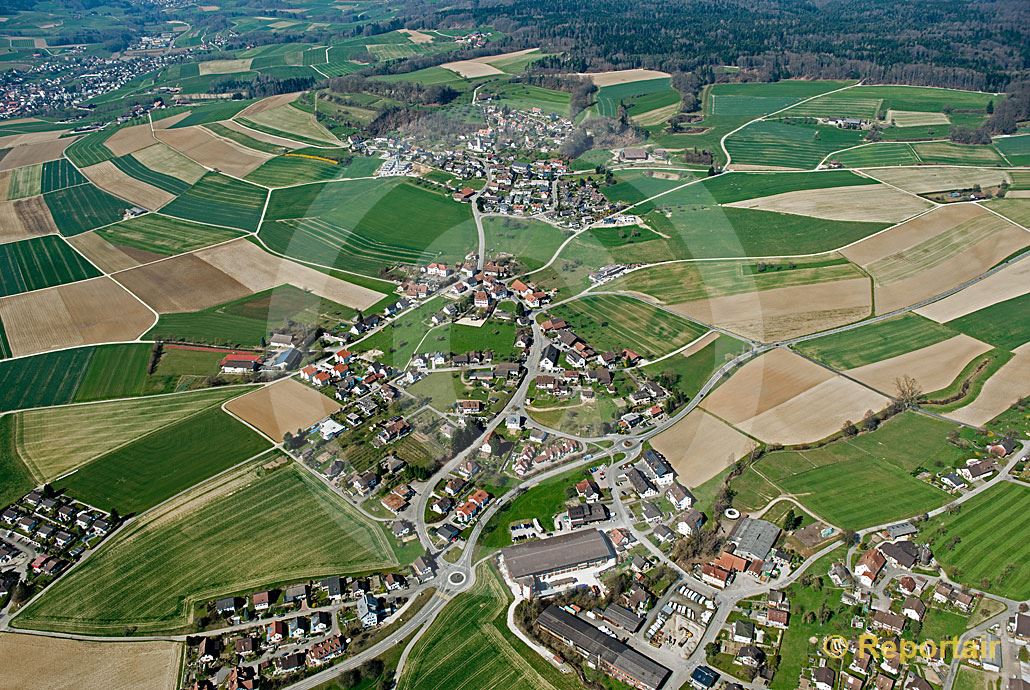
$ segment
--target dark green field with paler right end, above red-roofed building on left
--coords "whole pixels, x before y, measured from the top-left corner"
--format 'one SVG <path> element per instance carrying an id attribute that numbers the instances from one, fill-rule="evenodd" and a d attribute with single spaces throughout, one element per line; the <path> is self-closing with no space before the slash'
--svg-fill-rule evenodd
<path id="1" fill-rule="evenodd" d="M 335 326 L 354 313 L 286 284 L 201 311 L 162 314 L 145 338 L 259 347 L 287 320 Z"/>

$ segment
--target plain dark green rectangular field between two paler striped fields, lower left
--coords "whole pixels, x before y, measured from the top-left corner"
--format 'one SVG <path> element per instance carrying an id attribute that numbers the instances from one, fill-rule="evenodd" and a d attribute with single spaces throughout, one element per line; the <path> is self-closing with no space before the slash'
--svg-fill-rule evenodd
<path id="1" fill-rule="evenodd" d="M 57 486 L 107 511 L 142 513 L 269 447 L 258 433 L 211 408 L 101 455 Z"/>

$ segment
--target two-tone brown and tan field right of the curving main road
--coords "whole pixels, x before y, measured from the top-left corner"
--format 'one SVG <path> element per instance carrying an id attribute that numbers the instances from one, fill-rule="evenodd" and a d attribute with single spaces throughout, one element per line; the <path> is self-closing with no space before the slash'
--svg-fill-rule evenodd
<path id="1" fill-rule="evenodd" d="M 861 419 L 889 400 L 789 350 L 776 349 L 741 368 L 701 404 L 766 443 L 811 443 Z"/>

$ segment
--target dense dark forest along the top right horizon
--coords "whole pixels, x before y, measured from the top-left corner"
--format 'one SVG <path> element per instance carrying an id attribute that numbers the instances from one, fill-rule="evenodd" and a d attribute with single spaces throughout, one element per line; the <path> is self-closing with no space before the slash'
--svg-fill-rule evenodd
<path id="1" fill-rule="evenodd" d="M 562 71 L 739 65 L 759 80 L 865 78 L 1004 91 L 1027 69 L 1021 0 L 467 0 L 412 2 L 424 26 L 492 26 L 524 46 L 561 50 Z"/>

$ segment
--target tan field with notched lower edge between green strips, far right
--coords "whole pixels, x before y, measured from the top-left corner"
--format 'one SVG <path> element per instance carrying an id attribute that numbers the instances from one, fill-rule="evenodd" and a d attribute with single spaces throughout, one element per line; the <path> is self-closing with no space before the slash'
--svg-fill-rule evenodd
<path id="1" fill-rule="evenodd" d="M 916 379 L 927 392 L 940 390 L 955 380 L 973 357 L 991 349 L 987 343 L 966 335 L 955 336 L 928 347 L 848 370 L 848 376 L 887 395 L 896 393 L 895 381 Z"/>

